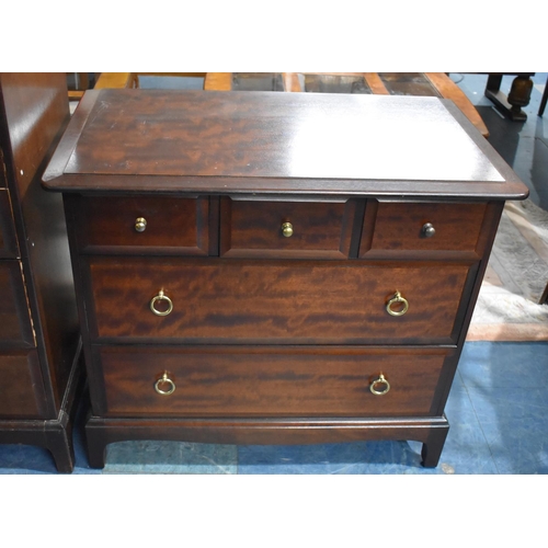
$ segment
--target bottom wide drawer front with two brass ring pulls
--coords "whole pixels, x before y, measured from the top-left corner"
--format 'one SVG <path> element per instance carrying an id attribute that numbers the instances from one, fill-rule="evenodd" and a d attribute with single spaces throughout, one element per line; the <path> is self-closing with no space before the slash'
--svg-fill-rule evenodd
<path id="1" fill-rule="evenodd" d="M 344 347 L 99 346 L 94 353 L 107 416 L 430 415 L 447 359 L 441 350 Z M 380 374 L 389 390 L 374 395 Z M 374 388 L 384 392 L 388 385 Z"/>

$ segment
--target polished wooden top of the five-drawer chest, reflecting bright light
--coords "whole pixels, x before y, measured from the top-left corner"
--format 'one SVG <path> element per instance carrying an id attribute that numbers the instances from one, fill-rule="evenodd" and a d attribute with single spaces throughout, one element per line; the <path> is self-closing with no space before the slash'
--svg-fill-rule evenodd
<path id="1" fill-rule="evenodd" d="M 527 195 L 452 102 L 329 93 L 92 90 L 44 182 L 67 192 Z"/>

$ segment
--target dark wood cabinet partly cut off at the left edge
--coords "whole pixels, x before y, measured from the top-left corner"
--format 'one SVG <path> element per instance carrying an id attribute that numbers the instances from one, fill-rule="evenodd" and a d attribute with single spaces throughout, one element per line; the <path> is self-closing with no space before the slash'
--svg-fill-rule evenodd
<path id="1" fill-rule="evenodd" d="M 65 75 L 0 73 L 0 443 L 61 472 L 83 364 L 62 201 L 41 180 L 68 119 Z"/>

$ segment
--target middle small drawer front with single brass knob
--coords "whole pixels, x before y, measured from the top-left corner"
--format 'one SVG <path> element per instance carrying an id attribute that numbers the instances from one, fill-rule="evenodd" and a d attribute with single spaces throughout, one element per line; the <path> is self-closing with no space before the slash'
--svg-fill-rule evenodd
<path id="1" fill-rule="evenodd" d="M 264 202 L 226 197 L 221 199 L 220 255 L 346 259 L 355 212 L 356 202 L 352 199 Z M 355 232 L 359 233 L 359 228 Z"/>

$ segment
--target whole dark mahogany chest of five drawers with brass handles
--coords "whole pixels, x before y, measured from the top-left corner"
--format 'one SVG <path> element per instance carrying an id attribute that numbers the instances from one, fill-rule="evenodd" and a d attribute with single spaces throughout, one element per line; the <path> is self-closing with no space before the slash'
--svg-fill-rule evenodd
<path id="1" fill-rule="evenodd" d="M 88 92 L 44 184 L 94 467 L 136 438 L 416 439 L 436 466 L 504 201 L 527 195 L 449 101 L 252 91 Z"/>

